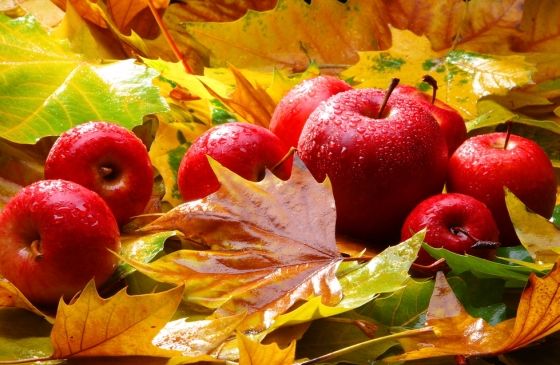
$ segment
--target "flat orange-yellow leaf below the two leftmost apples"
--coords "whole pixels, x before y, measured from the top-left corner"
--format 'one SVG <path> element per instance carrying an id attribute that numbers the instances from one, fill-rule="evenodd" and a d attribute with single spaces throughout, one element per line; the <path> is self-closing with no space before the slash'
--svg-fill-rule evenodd
<path id="1" fill-rule="evenodd" d="M 152 339 L 171 319 L 182 293 L 182 286 L 137 296 L 123 289 L 103 299 L 90 282 L 75 302 L 60 302 L 51 333 L 52 357 L 176 355 L 158 349 Z"/>

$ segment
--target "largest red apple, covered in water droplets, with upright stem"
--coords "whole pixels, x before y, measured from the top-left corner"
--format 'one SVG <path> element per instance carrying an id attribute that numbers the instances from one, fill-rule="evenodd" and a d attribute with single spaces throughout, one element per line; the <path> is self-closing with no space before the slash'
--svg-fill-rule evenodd
<path id="1" fill-rule="evenodd" d="M 447 145 L 427 109 L 384 90 L 355 89 L 322 103 L 303 128 L 298 153 L 313 176 L 330 178 L 337 229 L 387 244 L 412 208 L 441 192 Z"/>

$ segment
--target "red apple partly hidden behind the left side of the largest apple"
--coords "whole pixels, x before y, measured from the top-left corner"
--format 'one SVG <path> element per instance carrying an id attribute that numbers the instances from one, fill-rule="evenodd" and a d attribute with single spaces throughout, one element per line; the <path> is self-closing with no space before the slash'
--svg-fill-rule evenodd
<path id="1" fill-rule="evenodd" d="M 274 109 L 270 130 L 288 146 L 297 147 L 309 114 L 324 100 L 352 87 L 334 76 L 318 76 L 294 86 Z"/>

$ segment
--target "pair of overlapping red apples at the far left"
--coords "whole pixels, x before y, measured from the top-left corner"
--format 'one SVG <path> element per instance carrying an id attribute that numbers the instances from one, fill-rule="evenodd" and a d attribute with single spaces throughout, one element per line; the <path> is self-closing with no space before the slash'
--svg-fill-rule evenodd
<path id="1" fill-rule="evenodd" d="M 0 214 L 0 274 L 27 299 L 51 306 L 118 263 L 119 225 L 141 214 L 152 194 L 148 152 L 131 131 L 89 122 L 63 133 L 45 180 L 24 187 Z"/>

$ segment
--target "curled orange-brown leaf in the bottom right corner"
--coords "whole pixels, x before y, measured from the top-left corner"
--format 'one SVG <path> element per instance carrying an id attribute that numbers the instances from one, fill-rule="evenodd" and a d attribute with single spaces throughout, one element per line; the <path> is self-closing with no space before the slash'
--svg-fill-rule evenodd
<path id="1" fill-rule="evenodd" d="M 527 346 L 560 330 L 560 260 L 544 278 L 535 274 L 521 295 L 515 318 L 491 326 L 471 317 L 438 273 L 428 307 L 434 335 L 401 340 L 406 352 L 389 361 L 437 356 L 498 355 Z"/>

